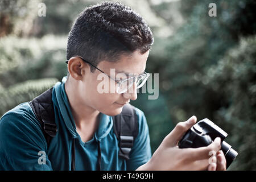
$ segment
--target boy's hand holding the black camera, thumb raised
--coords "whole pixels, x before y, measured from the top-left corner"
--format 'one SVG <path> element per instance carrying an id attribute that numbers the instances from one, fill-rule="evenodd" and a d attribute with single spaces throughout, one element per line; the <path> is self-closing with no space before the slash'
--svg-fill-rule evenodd
<path id="1" fill-rule="evenodd" d="M 193 116 L 188 121 L 177 123 L 152 155 L 150 161 L 139 167 L 141 170 L 225 170 L 226 160 L 221 148 L 220 138 L 216 138 L 207 147 L 179 148 L 177 143 L 185 132 L 196 123 Z M 213 151 L 214 156 L 209 155 Z M 209 158 L 214 162 L 209 164 Z M 216 160 L 218 159 L 218 160 Z M 219 161 L 220 159 L 220 161 Z"/>

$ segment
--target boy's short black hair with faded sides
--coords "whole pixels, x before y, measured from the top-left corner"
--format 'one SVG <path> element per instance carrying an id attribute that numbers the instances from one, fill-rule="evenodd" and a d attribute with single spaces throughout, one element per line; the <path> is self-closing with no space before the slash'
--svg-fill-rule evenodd
<path id="1" fill-rule="evenodd" d="M 104 59 L 117 61 L 121 54 L 143 54 L 153 43 L 150 27 L 139 14 L 118 2 L 102 2 L 77 17 L 68 35 L 67 60 L 82 56 L 97 66 Z"/>

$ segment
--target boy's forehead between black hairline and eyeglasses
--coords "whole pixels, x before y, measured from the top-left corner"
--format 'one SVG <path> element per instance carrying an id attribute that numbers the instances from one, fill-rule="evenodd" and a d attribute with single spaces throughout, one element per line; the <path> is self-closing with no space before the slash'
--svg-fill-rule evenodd
<path id="1" fill-rule="evenodd" d="M 101 61 L 98 68 L 104 71 L 115 69 L 116 73 L 130 73 L 133 75 L 140 75 L 146 68 L 147 57 L 149 51 L 141 54 L 139 51 L 134 51 L 131 55 L 121 55 L 116 62 Z"/>

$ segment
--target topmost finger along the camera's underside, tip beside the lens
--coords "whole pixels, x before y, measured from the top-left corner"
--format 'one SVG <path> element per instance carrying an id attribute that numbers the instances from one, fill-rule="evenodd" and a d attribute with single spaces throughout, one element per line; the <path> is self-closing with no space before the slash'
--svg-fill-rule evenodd
<path id="1" fill-rule="evenodd" d="M 210 156 L 216 155 L 221 147 L 221 139 L 217 137 L 214 139 L 214 142 L 209 144 L 207 147 L 199 147 L 199 148 L 184 148 L 190 153 L 190 157 L 193 160 L 203 160 L 209 159 Z"/>

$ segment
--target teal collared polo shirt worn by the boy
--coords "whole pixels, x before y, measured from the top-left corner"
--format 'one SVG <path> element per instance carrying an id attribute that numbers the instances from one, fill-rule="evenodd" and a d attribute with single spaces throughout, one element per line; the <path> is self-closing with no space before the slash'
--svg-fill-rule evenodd
<path id="1" fill-rule="evenodd" d="M 118 140 L 109 115 L 100 113 L 100 124 L 93 138 L 82 142 L 65 93 L 66 78 L 53 86 L 52 101 L 58 132 L 49 147 L 28 102 L 19 104 L 1 117 L 0 170 L 71 170 L 73 141 L 75 170 L 97 170 L 99 143 L 101 170 L 135 170 L 148 162 L 151 158 L 148 126 L 143 111 L 138 108 L 135 108 L 138 136 L 134 140 L 129 160 L 118 157 Z"/>

